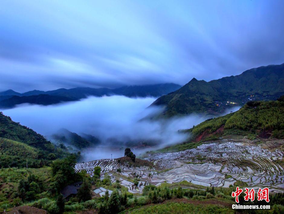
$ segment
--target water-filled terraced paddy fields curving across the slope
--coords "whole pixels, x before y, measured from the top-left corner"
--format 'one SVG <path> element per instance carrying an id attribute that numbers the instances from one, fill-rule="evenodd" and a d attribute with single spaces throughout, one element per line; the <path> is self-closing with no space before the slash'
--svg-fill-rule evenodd
<path id="1" fill-rule="evenodd" d="M 102 174 L 110 175 L 113 182 L 120 180 L 121 185 L 128 187 L 132 193 L 142 192 L 149 183 L 158 186 L 163 182 L 183 180 L 214 187 L 229 187 L 236 181 L 243 181 L 247 187 L 269 187 L 270 191 L 283 192 L 284 153 L 275 149 L 283 144 L 283 140 L 270 140 L 258 145 L 219 140 L 205 142 L 195 149 L 149 155 L 147 159 L 160 172 L 150 167 L 134 168 L 115 159 L 77 163 L 75 169 L 86 169 L 92 175 L 93 168 L 100 166 Z M 121 173 L 116 172 L 117 168 L 121 168 Z M 137 187 L 132 182 L 135 177 L 140 179 Z"/>

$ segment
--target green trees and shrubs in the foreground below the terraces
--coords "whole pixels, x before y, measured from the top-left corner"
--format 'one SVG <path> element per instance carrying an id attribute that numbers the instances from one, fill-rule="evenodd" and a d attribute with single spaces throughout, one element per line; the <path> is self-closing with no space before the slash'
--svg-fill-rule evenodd
<path id="1" fill-rule="evenodd" d="M 56 160 L 51 167 L 1 169 L 0 211 L 27 205 L 45 209 L 49 213 L 76 213 L 86 210 L 98 213 L 233 213 L 231 205 L 234 198 L 231 193 L 236 186 L 245 185 L 237 181 L 229 188 L 207 187 L 204 190 L 203 186 L 185 181 L 163 183 L 159 187 L 147 185 L 142 194 L 131 194 L 119 181 L 112 183 L 109 176 L 100 180 L 100 167 L 95 167 L 94 177 L 91 178 L 85 171 L 74 173 L 73 163 L 74 157 L 71 156 Z M 69 201 L 63 200 L 60 190 L 78 180 L 83 180 L 83 184 L 77 196 L 71 197 Z M 103 197 L 92 197 L 92 189 L 98 187 L 113 192 L 108 194 L 107 191 Z M 247 203 L 243 200 L 243 195 L 239 199 L 240 204 Z M 260 205 L 263 202 L 254 201 L 253 204 Z M 271 194 L 269 204 L 271 210 L 256 213 L 283 212 L 284 194 Z"/>

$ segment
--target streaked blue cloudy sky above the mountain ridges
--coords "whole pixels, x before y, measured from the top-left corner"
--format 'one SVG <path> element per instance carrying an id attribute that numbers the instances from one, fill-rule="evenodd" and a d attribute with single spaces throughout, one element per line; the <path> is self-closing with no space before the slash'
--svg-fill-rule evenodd
<path id="1" fill-rule="evenodd" d="M 284 62 L 284 1 L 0 1 L 0 91 L 185 84 Z"/>

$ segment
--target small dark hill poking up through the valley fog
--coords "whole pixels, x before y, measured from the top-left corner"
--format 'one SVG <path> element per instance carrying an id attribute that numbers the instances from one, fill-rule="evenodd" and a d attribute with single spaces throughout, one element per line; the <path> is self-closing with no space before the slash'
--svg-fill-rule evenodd
<path id="1" fill-rule="evenodd" d="M 100 143 L 100 140 L 92 135 L 84 133 L 79 135 L 64 128 L 46 138 L 53 143 L 75 146 L 78 149 L 92 147 Z"/>

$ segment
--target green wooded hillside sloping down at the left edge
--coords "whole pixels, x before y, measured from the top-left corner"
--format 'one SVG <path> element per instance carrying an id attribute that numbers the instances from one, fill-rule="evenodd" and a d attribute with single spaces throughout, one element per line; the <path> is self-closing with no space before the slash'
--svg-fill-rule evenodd
<path id="1" fill-rule="evenodd" d="M 0 167 L 40 167 L 66 154 L 42 135 L 0 112 Z"/>

